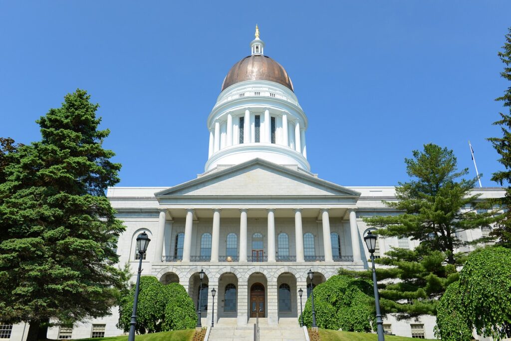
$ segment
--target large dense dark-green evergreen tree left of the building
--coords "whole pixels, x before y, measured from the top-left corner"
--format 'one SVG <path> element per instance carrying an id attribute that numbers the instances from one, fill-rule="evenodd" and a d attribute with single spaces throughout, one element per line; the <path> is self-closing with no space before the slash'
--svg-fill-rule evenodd
<path id="1" fill-rule="evenodd" d="M 124 231 L 105 196 L 120 164 L 103 149 L 97 104 L 84 90 L 37 123 L 42 140 L 9 154 L 0 184 L 0 320 L 39 326 L 110 313 L 123 271 L 114 267 Z M 38 335 L 39 334 L 39 335 Z"/>

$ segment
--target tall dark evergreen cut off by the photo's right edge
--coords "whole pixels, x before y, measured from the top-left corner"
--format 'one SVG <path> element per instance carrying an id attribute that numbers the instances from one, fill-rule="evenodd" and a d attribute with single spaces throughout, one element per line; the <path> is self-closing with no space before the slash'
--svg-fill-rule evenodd
<path id="1" fill-rule="evenodd" d="M 506 42 L 502 47 L 503 51 L 498 55 L 500 60 L 505 64 L 504 71 L 500 76 L 511 81 L 511 28 L 509 33 L 505 35 Z M 494 122 L 499 125 L 502 130 L 501 138 L 490 138 L 495 150 L 500 154 L 499 162 L 504 166 L 505 170 L 493 173 L 492 180 L 497 181 L 501 186 L 506 182 L 511 183 L 511 85 L 504 91 L 504 95 L 497 98 L 496 101 L 502 101 L 508 112 L 500 112 L 500 120 Z M 511 186 L 508 185 L 503 198 L 495 200 L 495 203 L 501 206 L 511 207 Z M 499 237 L 498 243 L 502 246 L 511 248 L 511 213 L 505 212 L 503 219 L 497 223 L 497 229 L 492 234 Z"/>

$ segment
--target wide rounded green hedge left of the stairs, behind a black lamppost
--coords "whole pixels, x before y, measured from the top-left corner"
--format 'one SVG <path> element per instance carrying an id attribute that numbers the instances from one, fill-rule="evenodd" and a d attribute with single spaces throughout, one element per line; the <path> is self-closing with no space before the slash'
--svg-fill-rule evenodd
<path id="1" fill-rule="evenodd" d="M 121 299 L 117 327 L 129 331 L 135 288 Z M 153 276 L 140 278 L 136 332 L 140 334 L 194 328 L 197 314 L 192 299 L 178 283 L 162 285 Z"/>

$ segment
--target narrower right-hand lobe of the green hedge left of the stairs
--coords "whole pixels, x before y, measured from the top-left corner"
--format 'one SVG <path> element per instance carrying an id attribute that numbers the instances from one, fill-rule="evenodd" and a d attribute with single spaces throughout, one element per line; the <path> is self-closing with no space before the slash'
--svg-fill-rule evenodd
<path id="1" fill-rule="evenodd" d="M 168 297 L 165 309 L 164 330 L 191 329 L 197 325 L 195 306 L 184 287 L 179 283 L 165 285 Z"/>

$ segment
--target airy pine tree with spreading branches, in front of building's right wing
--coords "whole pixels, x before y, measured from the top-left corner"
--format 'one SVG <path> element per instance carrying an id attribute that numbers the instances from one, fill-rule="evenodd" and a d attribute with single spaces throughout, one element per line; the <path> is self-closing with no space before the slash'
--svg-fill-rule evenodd
<path id="1" fill-rule="evenodd" d="M 377 269 L 384 311 L 411 317 L 436 313 L 437 299 L 457 280 L 456 266 L 466 259 L 466 254 L 455 250 L 487 240 L 467 242 L 459 234 L 479 229 L 495 218 L 486 210 L 489 204 L 478 202 L 479 195 L 471 192 L 477 179 L 462 178 L 468 169 L 457 170 L 451 150 L 427 144 L 424 151 L 414 150 L 413 158 L 406 158 L 405 163 L 410 181 L 396 188 L 397 201 L 385 201 L 400 213 L 364 220 L 384 238 L 420 241 L 414 249 L 392 248 L 376 260 L 388 265 Z M 483 210 L 478 213 L 479 209 Z M 354 275 L 351 271 L 340 273 Z M 370 279 L 370 271 L 356 276 Z"/>

